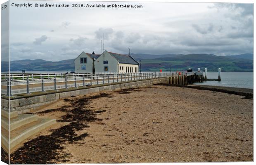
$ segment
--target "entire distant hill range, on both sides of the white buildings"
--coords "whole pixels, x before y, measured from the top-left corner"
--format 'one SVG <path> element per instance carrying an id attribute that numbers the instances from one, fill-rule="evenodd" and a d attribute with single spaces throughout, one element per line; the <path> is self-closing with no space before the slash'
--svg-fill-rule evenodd
<path id="1" fill-rule="evenodd" d="M 131 54 L 137 61 L 142 61 L 142 71 L 180 71 L 187 68 L 208 68 L 208 71 L 252 72 L 253 54 L 234 56 L 216 56 L 214 54 Z M 11 71 L 74 71 L 74 59 L 62 61 L 17 60 L 10 62 Z M 171 66 L 171 67 L 170 67 Z M 7 71 L 8 63 L 1 62 L 1 71 Z"/>

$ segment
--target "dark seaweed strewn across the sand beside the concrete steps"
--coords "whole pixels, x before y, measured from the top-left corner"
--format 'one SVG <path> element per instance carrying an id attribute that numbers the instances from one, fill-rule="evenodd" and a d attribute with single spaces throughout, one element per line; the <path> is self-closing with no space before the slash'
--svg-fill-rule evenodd
<path id="1" fill-rule="evenodd" d="M 81 143 L 83 138 L 88 134 L 76 134 L 77 131 L 83 130 L 88 122 L 100 120 L 97 118 L 98 113 L 101 111 L 92 111 L 86 108 L 86 105 L 90 103 L 90 100 L 100 97 L 111 97 L 110 94 L 101 93 L 99 95 L 81 98 L 66 99 L 69 101 L 70 106 L 63 106 L 57 109 L 49 109 L 39 113 L 50 113 L 54 111 L 66 112 L 58 121 L 70 122 L 68 125 L 64 125 L 55 130 L 50 130 L 52 133 L 49 135 L 42 135 L 26 142 L 21 148 L 11 154 L 11 164 L 46 164 L 46 163 L 65 163 L 69 161 L 70 154 L 63 151 L 64 146 L 62 144 L 77 144 Z M 83 143 L 81 143 L 83 144 Z M 1 155 L 1 159 L 4 158 Z"/>

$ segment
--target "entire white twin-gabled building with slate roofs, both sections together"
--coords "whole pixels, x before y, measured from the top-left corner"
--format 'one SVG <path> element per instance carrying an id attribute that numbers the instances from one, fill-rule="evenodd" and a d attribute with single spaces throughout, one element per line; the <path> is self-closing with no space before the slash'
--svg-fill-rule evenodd
<path id="1" fill-rule="evenodd" d="M 86 58 L 86 60 L 84 59 Z M 95 72 L 119 72 L 119 73 L 136 73 L 138 72 L 139 63 L 130 55 L 117 54 L 104 51 L 100 54 L 88 54 L 82 52 L 75 60 L 76 72 L 91 72 L 93 60 Z M 86 62 L 86 63 L 85 63 Z"/>

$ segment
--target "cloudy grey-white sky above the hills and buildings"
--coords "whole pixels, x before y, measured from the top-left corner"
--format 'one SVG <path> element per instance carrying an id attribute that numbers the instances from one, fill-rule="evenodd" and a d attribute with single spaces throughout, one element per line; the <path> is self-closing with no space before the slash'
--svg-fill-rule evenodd
<path id="1" fill-rule="evenodd" d="M 16 4 L 26 1 L 11 1 Z M 30 1 L 40 4 L 74 2 Z M 77 2 L 81 3 L 81 2 Z M 100 2 L 83 2 L 86 4 Z M 253 53 L 253 5 L 102 2 L 143 8 L 10 7 L 10 56 L 60 61 L 82 51 L 126 54 Z"/>

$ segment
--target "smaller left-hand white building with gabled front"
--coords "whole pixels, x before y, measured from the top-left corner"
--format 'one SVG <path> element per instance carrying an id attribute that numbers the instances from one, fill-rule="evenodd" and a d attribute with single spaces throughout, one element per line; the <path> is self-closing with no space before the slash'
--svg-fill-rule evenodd
<path id="1" fill-rule="evenodd" d="M 100 54 L 82 52 L 74 59 L 75 72 L 93 73 L 93 59 L 96 60 L 98 57 L 100 57 Z"/>

